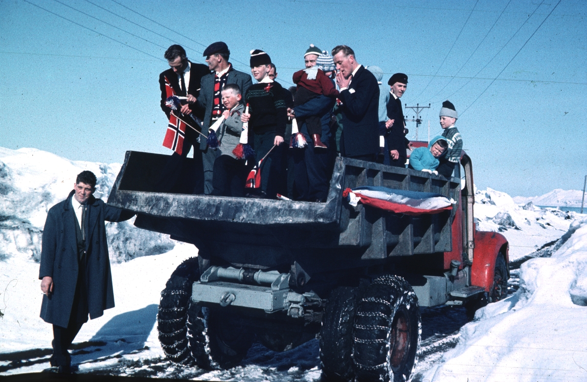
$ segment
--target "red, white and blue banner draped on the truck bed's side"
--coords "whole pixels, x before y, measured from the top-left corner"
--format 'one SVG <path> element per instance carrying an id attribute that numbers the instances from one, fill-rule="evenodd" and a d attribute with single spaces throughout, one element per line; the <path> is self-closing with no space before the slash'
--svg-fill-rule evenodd
<path id="1" fill-rule="evenodd" d="M 347 188 L 342 196 L 350 205 L 356 207 L 360 202 L 364 205 L 395 212 L 396 214 L 421 215 L 438 214 L 453 209 L 456 202 L 444 195 L 433 192 L 393 190 L 387 187 Z"/>

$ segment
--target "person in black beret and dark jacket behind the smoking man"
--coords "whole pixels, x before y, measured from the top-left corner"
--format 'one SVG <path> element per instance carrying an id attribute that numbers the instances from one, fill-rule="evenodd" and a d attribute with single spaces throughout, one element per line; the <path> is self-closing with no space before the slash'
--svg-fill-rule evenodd
<path id="1" fill-rule="evenodd" d="M 396 167 L 406 167 L 406 124 L 402 110 L 402 98 L 407 88 L 407 76 L 404 73 L 394 74 L 387 82 L 391 87 L 389 102 L 387 102 L 387 118 L 385 123 L 385 143 L 389 164 Z"/>

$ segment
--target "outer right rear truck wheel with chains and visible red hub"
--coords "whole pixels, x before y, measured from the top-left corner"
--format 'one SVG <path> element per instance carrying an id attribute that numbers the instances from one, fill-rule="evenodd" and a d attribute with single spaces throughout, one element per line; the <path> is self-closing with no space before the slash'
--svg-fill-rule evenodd
<path id="1" fill-rule="evenodd" d="M 357 380 L 409 380 L 420 333 L 420 307 L 410 284 L 392 275 L 373 280 L 360 299 L 355 318 Z"/>

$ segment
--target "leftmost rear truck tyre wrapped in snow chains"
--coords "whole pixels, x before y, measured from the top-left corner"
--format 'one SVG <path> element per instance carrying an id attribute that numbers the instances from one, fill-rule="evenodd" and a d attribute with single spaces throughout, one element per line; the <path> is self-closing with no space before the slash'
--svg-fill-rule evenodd
<path id="1" fill-rule="evenodd" d="M 159 342 L 168 359 L 183 364 L 192 363 L 187 340 L 187 307 L 193 283 L 200 278 L 198 258 L 181 263 L 167 280 L 161 292 L 157 313 Z"/>

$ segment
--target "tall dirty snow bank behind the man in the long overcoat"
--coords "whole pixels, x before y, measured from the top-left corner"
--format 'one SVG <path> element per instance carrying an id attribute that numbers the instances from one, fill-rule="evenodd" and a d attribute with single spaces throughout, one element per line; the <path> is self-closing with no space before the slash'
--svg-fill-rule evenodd
<path id="1" fill-rule="evenodd" d="M 121 165 L 72 161 L 36 148 L 0 148 L 0 261 L 26 256 L 39 261 L 47 212 L 73 190 L 83 170 L 96 174 L 96 198 L 107 199 Z M 166 235 L 127 222 L 107 223 L 110 259 L 122 262 L 170 251 Z"/>

